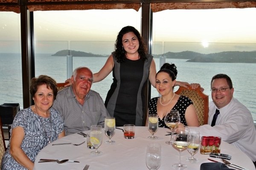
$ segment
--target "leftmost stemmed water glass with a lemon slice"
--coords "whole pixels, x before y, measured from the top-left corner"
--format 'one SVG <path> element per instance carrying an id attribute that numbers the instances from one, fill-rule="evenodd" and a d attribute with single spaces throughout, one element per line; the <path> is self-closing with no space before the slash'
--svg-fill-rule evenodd
<path id="1" fill-rule="evenodd" d="M 101 125 L 91 125 L 90 129 L 90 141 L 95 147 L 95 151 L 92 151 L 92 155 L 101 155 L 102 151 L 98 150 L 98 147 L 102 144 L 102 126 Z"/>

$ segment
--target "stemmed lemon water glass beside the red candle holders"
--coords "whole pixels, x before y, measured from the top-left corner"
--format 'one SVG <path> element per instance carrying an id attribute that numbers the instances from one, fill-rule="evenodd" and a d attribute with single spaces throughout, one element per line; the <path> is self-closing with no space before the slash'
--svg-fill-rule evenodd
<path id="1" fill-rule="evenodd" d="M 198 159 L 194 158 L 194 155 L 198 152 L 200 147 L 200 132 L 197 130 L 190 130 L 190 134 L 191 134 L 191 142 L 187 147 L 187 149 L 192 157 L 186 158 L 186 161 L 197 162 Z"/>

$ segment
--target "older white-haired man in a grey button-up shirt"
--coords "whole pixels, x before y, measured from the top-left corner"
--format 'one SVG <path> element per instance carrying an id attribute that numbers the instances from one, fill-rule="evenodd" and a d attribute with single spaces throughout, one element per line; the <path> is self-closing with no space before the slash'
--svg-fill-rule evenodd
<path id="1" fill-rule="evenodd" d="M 73 71 L 72 85 L 58 92 L 52 108 L 61 114 L 66 135 L 90 130 L 91 125 L 104 126 L 108 111 L 96 91 L 90 90 L 93 73 L 80 67 Z"/>

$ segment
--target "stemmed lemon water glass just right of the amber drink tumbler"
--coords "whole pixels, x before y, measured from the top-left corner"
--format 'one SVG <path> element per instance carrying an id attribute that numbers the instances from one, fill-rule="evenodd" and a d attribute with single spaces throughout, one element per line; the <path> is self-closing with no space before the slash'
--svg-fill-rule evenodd
<path id="1" fill-rule="evenodd" d="M 158 115 L 157 114 L 149 114 L 148 115 L 148 130 L 152 134 L 148 136 L 148 139 L 158 139 L 157 136 L 154 136 L 154 133 L 157 132 L 158 129 Z"/>

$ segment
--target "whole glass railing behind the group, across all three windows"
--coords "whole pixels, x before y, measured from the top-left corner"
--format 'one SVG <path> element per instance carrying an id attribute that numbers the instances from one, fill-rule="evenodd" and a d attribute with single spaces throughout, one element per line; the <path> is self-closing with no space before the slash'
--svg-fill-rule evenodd
<path id="1" fill-rule="evenodd" d="M 0 42 L 4 43 L 4 42 Z M 15 42 L 12 42 L 15 43 Z M 17 43 L 17 42 L 16 42 Z M 67 56 L 72 56 L 73 70 L 80 66 L 91 69 L 93 73 L 98 72 L 105 64 L 107 58 L 114 51 L 113 41 L 72 41 L 70 42 L 70 50 L 68 51 L 67 41 L 38 41 L 35 47 L 35 76 L 46 74 L 57 82 L 64 82 L 67 79 Z M 163 44 L 163 45 L 162 45 Z M 175 63 L 178 74 L 177 80 L 184 82 L 200 83 L 205 89 L 204 93 L 210 93 L 210 81 L 215 74 L 224 73 L 231 77 L 234 86 L 234 97 L 243 103 L 252 113 L 253 119 L 256 120 L 256 92 L 251 90 L 251 85 L 256 83 L 256 44 L 227 44 L 218 43 L 211 45 L 213 49 L 225 46 L 242 46 L 247 47 L 248 51 L 214 51 L 208 48 L 207 51 L 200 51 L 201 43 L 192 42 L 155 42 L 153 43 L 152 55 L 156 62 L 157 71 L 160 69 L 160 57 L 165 58 L 166 62 Z M 177 51 L 177 46 L 183 48 Z M 190 47 L 196 47 L 198 51 L 192 51 Z M 1 48 L 0 48 L 1 49 Z M 162 52 L 161 52 L 162 51 Z M 154 54 L 156 53 L 156 54 Z M 12 57 L 11 57 L 12 56 Z M 2 97 L 1 103 L 18 102 L 20 108 L 23 108 L 22 97 L 22 74 L 21 74 L 21 55 L 20 53 L 3 53 L 0 51 L 1 57 L 1 75 L 0 93 Z M 240 62 L 188 62 L 189 59 L 225 59 L 229 57 L 230 61 L 238 59 Z M 253 60 L 254 59 L 254 60 Z M 249 62 L 250 61 L 250 62 Z M 18 73 L 18 74 L 17 74 Z M 248 82 L 250 83 L 244 83 Z M 105 101 L 106 95 L 113 82 L 112 73 L 101 82 L 94 83 L 92 90 L 99 92 Z M 7 89 L 7 90 L 6 90 Z M 177 87 L 175 87 L 177 90 Z M 151 88 L 151 98 L 158 96 L 155 88 Z M 256 121 L 255 121 L 256 123 Z"/>

